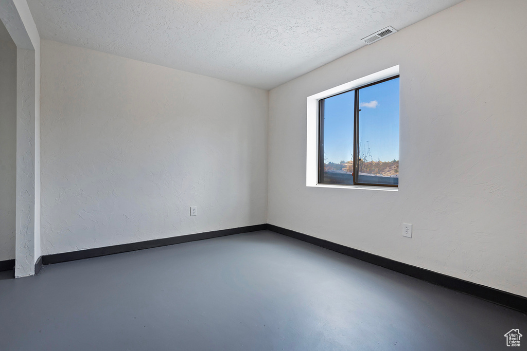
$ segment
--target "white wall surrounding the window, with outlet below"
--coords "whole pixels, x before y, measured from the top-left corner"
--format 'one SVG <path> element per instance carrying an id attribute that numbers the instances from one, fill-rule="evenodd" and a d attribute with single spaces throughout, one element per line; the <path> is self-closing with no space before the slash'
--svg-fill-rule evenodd
<path id="1" fill-rule="evenodd" d="M 466 0 L 273 89 L 268 222 L 527 296 L 526 14 Z M 394 65 L 399 191 L 306 187 L 307 96 Z"/>

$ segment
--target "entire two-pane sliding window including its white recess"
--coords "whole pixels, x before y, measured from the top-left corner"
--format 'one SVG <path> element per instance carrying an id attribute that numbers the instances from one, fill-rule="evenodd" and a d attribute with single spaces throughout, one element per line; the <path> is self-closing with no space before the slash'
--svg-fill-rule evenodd
<path id="1" fill-rule="evenodd" d="M 315 137 L 316 185 L 397 188 L 398 66 L 385 71 L 380 72 L 380 78 L 376 74 L 357 79 L 308 98 L 308 158 L 309 144 Z M 314 136 L 309 133 L 313 126 L 313 121 L 309 121 L 310 108 L 316 109 L 318 117 Z M 313 165 L 308 159 L 308 173 L 310 164 Z M 314 185 L 309 180 L 308 174 L 307 185 Z"/>

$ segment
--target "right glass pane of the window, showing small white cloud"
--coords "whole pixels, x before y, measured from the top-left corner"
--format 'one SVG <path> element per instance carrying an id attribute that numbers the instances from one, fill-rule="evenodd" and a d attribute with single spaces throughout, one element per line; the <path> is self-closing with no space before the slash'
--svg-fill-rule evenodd
<path id="1" fill-rule="evenodd" d="M 399 183 L 399 78 L 359 89 L 357 183 Z"/>

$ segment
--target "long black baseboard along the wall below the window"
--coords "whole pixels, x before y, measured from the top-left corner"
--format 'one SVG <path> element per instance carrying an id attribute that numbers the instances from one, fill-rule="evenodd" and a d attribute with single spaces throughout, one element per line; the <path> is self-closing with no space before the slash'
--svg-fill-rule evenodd
<path id="1" fill-rule="evenodd" d="M 514 295 L 488 286 L 467 282 L 463 279 L 454 278 L 441 273 L 436 273 L 432 270 L 419 268 L 402 262 L 397 262 L 393 259 L 377 256 L 351 247 L 332 243 L 324 239 L 319 239 L 310 235 L 298 233 L 294 230 L 278 227 L 276 225 L 268 224 L 267 229 L 272 230 L 272 232 L 287 235 L 292 238 L 299 239 L 320 247 L 324 247 L 347 256 L 358 258 L 365 262 L 373 263 L 377 266 L 395 270 L 395 272 L 403 273 L 417 279 L 425 280 L 425 282 L 430 282 L 432 284 L 440 285 L 448 289 L 456 290 L 460 293 L 465 293 L 475 297 L 479 297 L 481 299 L 493 302 L 495 304 L 509 307 L 527 314 L 527 298 L 520 295 Z"/>

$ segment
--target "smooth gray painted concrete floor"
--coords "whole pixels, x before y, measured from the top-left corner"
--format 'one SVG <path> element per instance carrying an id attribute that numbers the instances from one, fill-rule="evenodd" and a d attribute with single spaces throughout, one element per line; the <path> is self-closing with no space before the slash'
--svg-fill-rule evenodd
<path id="1" fill-rule="evenodd" d="M 501 350 L 527 316 L 268 231 L 0 276 L 0 350 Z"/>

